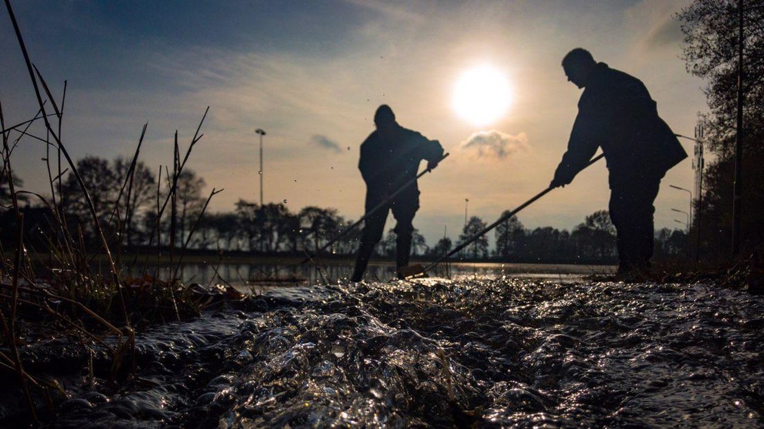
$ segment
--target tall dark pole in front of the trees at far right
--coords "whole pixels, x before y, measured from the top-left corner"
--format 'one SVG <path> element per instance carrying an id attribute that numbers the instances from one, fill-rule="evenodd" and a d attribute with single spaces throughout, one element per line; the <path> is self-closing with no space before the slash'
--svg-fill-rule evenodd
<path id="1" fill-rule="evenodd" d="M 743 203 L 743 0 L 738 0 L 737 27 L 737 130 L 735 133 L 735 185 L 732 200 L 732 255 L 740 253 L 740 211 Z"/>

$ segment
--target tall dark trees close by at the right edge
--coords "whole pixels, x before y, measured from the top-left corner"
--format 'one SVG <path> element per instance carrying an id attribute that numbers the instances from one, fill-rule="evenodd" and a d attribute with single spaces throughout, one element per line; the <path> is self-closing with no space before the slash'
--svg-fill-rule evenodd
<path id="1" fill-rule="evenodd" d="M 739 40 L 743 5 L 743 40 Z M 736 135 L 743 138 L 741 249 L 764 258 L 764 2 L 695 0 L 675 17 L 685 35 L 688 72 L 707 83 L 710 111 L 701 115 L 702 143 L 713 158 L 704 171 L 702 198 L 694 201 L 691 235 L 700 233 L 702 258 L 727 258 L 731 250 Z M 738 50 L 743 44 L 743 69 Z M 743 128 L 738 130 L 738 75 Z M 696 165 L 696 168 L 698 166 Z M 697 194 L 695 195 L 698 196 Z M 695 240 L 697 236 L 693 237 Z"/>

